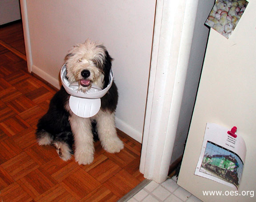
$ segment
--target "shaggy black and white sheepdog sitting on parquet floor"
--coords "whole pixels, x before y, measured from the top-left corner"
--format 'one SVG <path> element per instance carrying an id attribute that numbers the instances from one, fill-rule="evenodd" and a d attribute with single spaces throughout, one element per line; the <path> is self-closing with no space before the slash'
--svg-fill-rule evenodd
<path id="1" fill-rule="evenodd" d="M 65 58 L 66 78 L 70 83 L 78 82 L 79 89 L 86 93 L 92 83 L 104 89 L 109 83 L 112 58 L 102 44 L 86 40 L 74 46 Z M 118 101 L 116 84 L 113 82 L 101 99 L 100 111 L 90 117 L 75 115 L 69 107 L 70 95 L 62 86 L 52 98 L 48 112 L 37 124 L 36 140 L 39 145 L 54 145 L 64 161 L 74 156 L 78 164 L 90 164 L 94 158 L 92 123 L 100 143 L 109 153 L 124 148 L 115 127 L 115 111 Z"/>

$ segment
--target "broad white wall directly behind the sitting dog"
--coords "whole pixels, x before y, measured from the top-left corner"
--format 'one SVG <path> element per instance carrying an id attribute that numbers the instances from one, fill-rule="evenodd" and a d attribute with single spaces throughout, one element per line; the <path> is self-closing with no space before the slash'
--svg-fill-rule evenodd
<path id="1" fill-rule="evenodd" d="M 26 44 L 31 44 L 28 68 L 59 87 L 59 72 L 68 49 L 87 38 L 103 42 L 114 58 L 120 95 L 117 127 L 141 142 L 156 0 L 22 2 L 27 7 L 23 15 L 28 16 L 24 23 L 29 32 Z"/>

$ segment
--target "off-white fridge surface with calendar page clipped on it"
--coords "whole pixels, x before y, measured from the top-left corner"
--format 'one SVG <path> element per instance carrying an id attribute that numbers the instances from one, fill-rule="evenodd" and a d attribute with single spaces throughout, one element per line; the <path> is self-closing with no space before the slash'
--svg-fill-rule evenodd
<path id="1" fill-rule="evenodd" d="M 256 1 L 250 0 L 227 40 L 210 31 L 178 184 L 204 202 L 256 201 Z M 194 175 L 206 123 L 237 127 L 247 147 L 238 192 L 229 186 Z M 203 191 L 221 191 L 220 196 Z"/>

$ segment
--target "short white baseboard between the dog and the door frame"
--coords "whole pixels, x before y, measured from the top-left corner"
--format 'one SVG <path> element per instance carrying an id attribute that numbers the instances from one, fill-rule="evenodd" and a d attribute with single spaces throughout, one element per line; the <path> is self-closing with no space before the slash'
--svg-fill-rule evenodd
<path id="1" fill-rule="evenodd" d="M 131 138 L 135 139 L 139 143 L 142 143 L 142 133 L 136 131 L 134 128 L 129 126 L 127 123 L 116 117 L 116 127 L 123 131 L 125 134 L 129 135 Z"/>

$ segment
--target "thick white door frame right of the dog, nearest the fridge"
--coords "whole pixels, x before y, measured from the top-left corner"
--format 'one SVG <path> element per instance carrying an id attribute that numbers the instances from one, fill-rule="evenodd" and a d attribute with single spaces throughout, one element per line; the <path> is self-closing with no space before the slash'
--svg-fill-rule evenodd
<path id="1" fill-rule="evenodd" d="M 140 172 L 164 182 L 172 157 L 198 0 L 158 0 Z"/>

